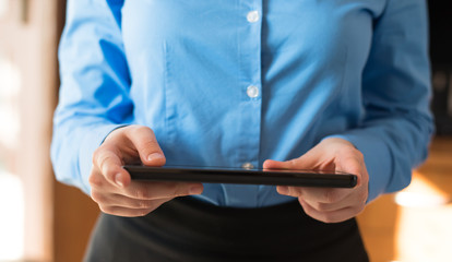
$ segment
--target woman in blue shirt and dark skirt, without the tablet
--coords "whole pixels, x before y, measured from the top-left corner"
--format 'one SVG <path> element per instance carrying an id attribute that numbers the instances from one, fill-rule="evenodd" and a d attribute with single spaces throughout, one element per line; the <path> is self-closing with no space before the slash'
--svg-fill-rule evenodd
<path id="1" fill-rule="evenodd" d="M 70 0 L 52 160 L 104 212 L 85 260 L 367 261 L 354 217 L 432 132 L 426 21 L 423 0 Z M 138 160 L 358 184 L 136 182 Z"/>

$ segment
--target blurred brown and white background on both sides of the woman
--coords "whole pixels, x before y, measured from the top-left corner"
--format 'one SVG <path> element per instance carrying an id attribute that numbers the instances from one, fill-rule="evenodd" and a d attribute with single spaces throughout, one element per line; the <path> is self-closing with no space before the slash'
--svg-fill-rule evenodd
<path id="1" fill-rule="evenodd" d="M 0 0 L 0 261 L 81 261 L 97 206 L 49 160 L 64 0 Z M 371 261 L 452 261 L 452 8 L 429 1 L 437 135 L 412 184 L 358 217 Z"/>

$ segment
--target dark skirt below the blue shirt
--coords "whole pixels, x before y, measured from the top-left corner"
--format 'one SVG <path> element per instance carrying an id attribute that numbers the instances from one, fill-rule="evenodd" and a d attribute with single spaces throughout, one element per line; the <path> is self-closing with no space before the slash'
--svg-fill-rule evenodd
<path id="1" fill-rule="evenodd" d="M 103 214 L 85 261 L 369 261 L 355 219 L 325 224 L 297 201 L 231 209 L 175 199 L 143 217 Z"/>

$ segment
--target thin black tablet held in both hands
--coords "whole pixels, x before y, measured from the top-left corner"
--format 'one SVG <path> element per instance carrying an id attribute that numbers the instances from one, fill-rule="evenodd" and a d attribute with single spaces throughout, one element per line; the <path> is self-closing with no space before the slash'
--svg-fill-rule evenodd
<path id="1" fill-rule="evenodd" d="M 205 183 L 272 184 L 320 188 L 353 188 L 357 177 L 352 174 L 317 170 L 243 169 L 229 167 L 126 165 L 134 180 L 183 181 Z"/>

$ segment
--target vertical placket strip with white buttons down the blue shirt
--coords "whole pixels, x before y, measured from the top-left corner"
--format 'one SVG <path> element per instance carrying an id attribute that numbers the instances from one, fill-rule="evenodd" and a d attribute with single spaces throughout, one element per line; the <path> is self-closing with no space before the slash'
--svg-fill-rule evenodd
<path id="1" fill-rule="evenodd" d="M 242 12 L 242 22 L 238 28 L 239 50 L 239 86 L 240 114 L 237 135 L 237 162 L 242 168 L 259 167 L 260 136 L 261 136 L 261 108 L 262 108 L 262 79 L 261 79 L 261 31 L 262 31 L 262 0 L 240 1 L 239 12 Z M 240 193 L 247 194 L 247 201 L 255 200 L 258 186 L 251 193 L 251 186 L 247 190 L 240 190 L 240 186 L 234 196 L 234 202 L 240 200 Z M 254 198 L 251 198 L 254 195 Z M 242 195 L 245 196 L 245 195 Z"/>

